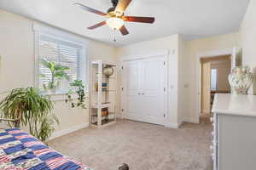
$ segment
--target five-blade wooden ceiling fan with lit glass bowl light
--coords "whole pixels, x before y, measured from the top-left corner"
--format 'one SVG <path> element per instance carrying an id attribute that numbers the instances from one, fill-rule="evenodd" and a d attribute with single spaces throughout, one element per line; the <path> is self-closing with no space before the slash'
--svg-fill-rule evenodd
<path id="1" fill-rule="evenodd" d="M 124 36 L 129 34 L 129 31 L 125 27 L 125 22 L 142 22 L 153 24 L 153 17 L 137 17 L 137 16 L 125 16 L 125 9 L 131 3 L 131 0 L 111 0 L 113 7 L 109 8 L 107 13 L 96 10 L 94 8 L 86 7 L 81 3 L 74 3 L 74 5 L 83 8 L 86 11 L 89 11 L 94 14 L 99 14 L 105 16 L 107 20 L 104 20 L 94 26 L 88 27 L 88 29 L 93 30 L 100 26 L 108 25 L 113 30 L 119 30 Z"/>

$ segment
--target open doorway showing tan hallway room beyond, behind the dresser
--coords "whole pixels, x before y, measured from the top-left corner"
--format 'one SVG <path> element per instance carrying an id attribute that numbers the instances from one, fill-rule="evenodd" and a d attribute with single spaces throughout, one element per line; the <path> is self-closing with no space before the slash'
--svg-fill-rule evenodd
<path id="1" fill-rule="evenodd" d="M 202 57 L 200 122 L 210 122 L 215 94 L 230 94 L 231 55 Z"/>

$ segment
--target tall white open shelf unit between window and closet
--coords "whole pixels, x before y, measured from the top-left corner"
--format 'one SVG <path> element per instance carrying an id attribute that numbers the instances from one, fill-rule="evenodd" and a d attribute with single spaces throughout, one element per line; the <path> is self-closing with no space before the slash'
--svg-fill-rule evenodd
<path id="1" fill-rule="evenodd" d="M 113 69 L 112 76 L 107 77 L 103 74 L 103 68 L 106 65 L 116 67 L 112 63 L 104 63 L 102 60 L 91 62 L 91 75 L 90 75 L 90 125 L 93 127 L 104 127 L 116 121 L 116 97 L 117 93 L 116 80 L 117 70 Z M 102 116 L 106 114 L 108 116 Z M 98 122 L 101 125 L 98 125 Z"/>

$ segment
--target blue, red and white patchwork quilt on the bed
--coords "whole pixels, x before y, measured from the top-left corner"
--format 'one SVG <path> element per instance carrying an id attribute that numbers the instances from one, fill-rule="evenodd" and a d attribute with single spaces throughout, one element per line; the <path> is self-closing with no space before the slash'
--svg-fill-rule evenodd
<path id="1" fill-rule="evenodd" d="M 92 170 L 20 129 L 0 129 L 0 170 Z"/>

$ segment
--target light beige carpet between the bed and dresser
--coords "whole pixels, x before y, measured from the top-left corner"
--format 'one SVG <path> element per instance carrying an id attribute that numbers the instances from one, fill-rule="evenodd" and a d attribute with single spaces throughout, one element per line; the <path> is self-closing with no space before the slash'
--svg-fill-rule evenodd
<path id="1" fill-rule="evenodd" d="M 212 126 L 184 123 L 178 129 L 119 120 L 103 129 L 84 128 L 49 146 L 95 170 L 212 170 Z"/>

